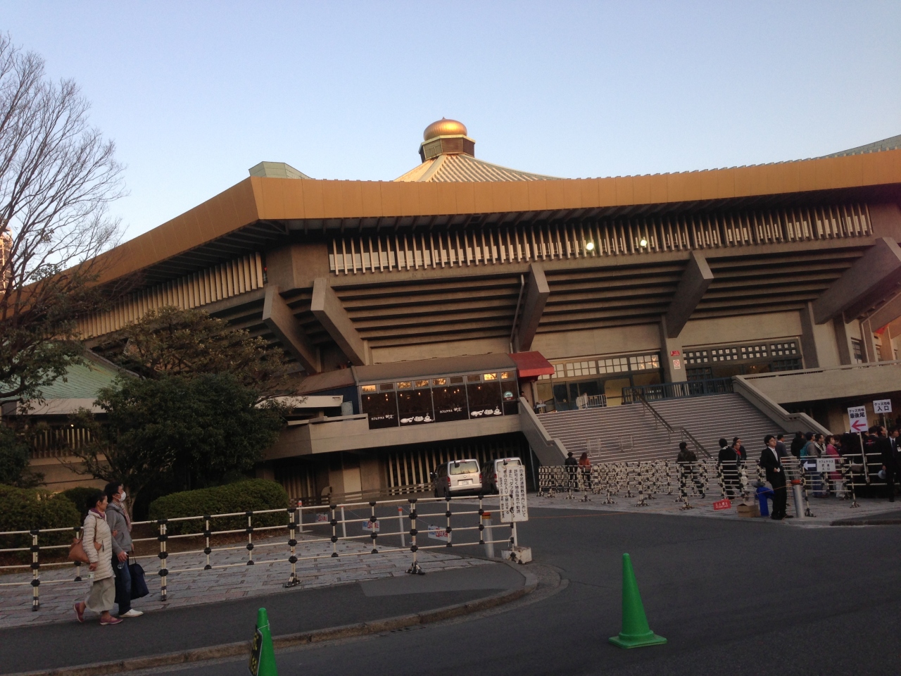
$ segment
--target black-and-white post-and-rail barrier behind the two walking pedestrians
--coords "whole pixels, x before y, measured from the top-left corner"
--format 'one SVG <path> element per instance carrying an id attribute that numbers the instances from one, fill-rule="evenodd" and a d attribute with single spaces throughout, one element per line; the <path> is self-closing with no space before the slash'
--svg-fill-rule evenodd
<path id="1" fill-rule="evenodd" d="M 491 539 L 495 528 L 503 525 L 492 526 L 490 514 L 483 506 L 482 496 L 478 496 L 478 508 L 473 507 L 472 497 L 447 497 L 447 498 L 403 498 L 394 500 L 369 500 L 367 502 L 350 502 L 345 504 L 332 504 L 323 509 L 322 506 L 304 507 L 302 504 L 292 505 L 283 509 L 265 509 L 265 510 L 248 510 L 245 512 L 232 512 L 228 514 L 213 514 L 203 516 L 180 516 L 171 519 L 158 519 L 151 521 L 132 522 L 133 526 L 151 525 L 157 534 L 150 537 L 134 538 L 133 543 L 151 543 L 159 544 L 159 552 L 154 554 L 142 554 L 140 556 L 131 557 L 131 561 L 146 560 L 156 558 L 159 561 L 157 575 L 159 577 L 159 599 L 166 601 L 168 599 L 168 579 L 177 573 L 188 571 L 211 571 L 214 569 L 230 569 L 242 568 L 257 564 L 275 564 L 287 563 L 287 581 L 285 587 L 294 587 L 300 584 L 301 579 L 297 573 L 297 563 L 304 561 L 317 561 L 321 559 L 341 559 L 347 557 L 384 555 L 390 553 L 409 552 L 411 554 L 410 567 L 407 570 L 411 574 L 423 574 L 423 569 L 419 562 L 419 553 L 429 550 L 443 550 L 454 547 L 470 547 L 484 546 L 488 558 L 494 556 L 495 544 L 509 544 L 510 548 L 518 546 L 518 535 L 516 533 L 516 523 L 510 524 L 509 537 L 503 539 Z M 460 509 L 455 510 L 453 507 L 460 504 Z M 432 507 L 435 507 L 432 509 Z M 359 514 L 362 513 L 362 514 Z M 287 523 L 281 525 L 264 525 L 255 526 L 254 518 L 263 515 L 285 515 Z M 323 516 L 324 515 L 324 518 Z M 214 521 L 219 518 L 246 517 L 247 526 L 243 528 L 229 528 L 224 530 L 215 530 L 212 526 Z M 365 534 L 348 534 L 347 526 L 349 524 L 359 525 L 369 521 L 370 525 L 378 524 L 378 532 L 373 528 Z M 169 534 L 170 525 L 176 523 L 197 523 L 202 530 L 190 533 Z M 393 527 L 396 524 L 396 529 Z M 407 527 L 408 525 L 408 527 Z M 425 530 L 423 531 L 423 525 Z M 326 535 L 304 537 L 298 540 L 298 534 L 303 534 L 305 529 L 310 534 L 321 535 L 325 530 Z M 259 534 L 278 533 L 287 530 L 287 540 L 277 540 L 276 538 L 265 538 L 259 541 Z M 63 584 L 71 582 L 81 582 L 82 563 L 72 562 L 41 562 L 41 553 L 55 550 L 66 550 L 69 544 L 41 544 L 41 537 L 50 537 L 52 534 L 71 533 L 73 537 L 80 537 L 81 527 L 69 528 L 46 528 L 33 529 L 27 531 L 4 531 L 0 532 L 0 538 L 12 537 L 23 538 L 28 536 L 31 538 L 29 546 L 7 547 L 0 549 L 0 553 L 30 553 L 31 562 L 13 565 L 0 566 L 0 571 L 31 570 L 32 579 L 29 581 L 0 582 L 0 587 L 23 587 L 31 586 L 32 588 L 32 611 L 37 611 L 41 607 L 40 589 L 41 585 L 46 584 Z M 246 544 L 230 544 L 220 547 L 213 546 L 213 538 L 216 535 L 228 534 L 246 534 Z M 257 542 L 254 542 L 254 536 L 257 536 Z M 423 536 L 432 535 L 436 539 L 441 540 L 441 544 L 423 544 Z M 473 537 L 475 536 L 475 537 Z M 409 537 L 409 544 L 406 538 Z M 487 537 L 487 539 L 486 539 Z M 185 538 L 203 538 L 205 546 L 203 549 L 191 549 L 183 552 L 168 551 L 168 543 L 177 539 Z M 391 544 L 383 546 L 378 544 L 379 539 L 385 541 L 386 538 Z M 361 548 L 359 551 L 341 552 L 338 551 L 338 544 L 345 543 L 363 543 L 369 541 L 369 547 Z M 3 540 L 0 539 L 0 543 Z M 331 552 L 329 553 L 309 553 L 305 555 L 305 545 L 311 544 L 331 544 Z M 247 559 L 241 563 L 217 563 L 215 561 L 215 553 L 233 552 L 245 550 Z M 277 558 L 265 558 L 266 554 L 260 554 L 260 551 L 278 552 L 281 551 L 282 556 L 275 554 Z M 196 555 L 203 553 L 205 563 L 202 566 L 189 566 L 183 568 L 168 567 L 170 560 L 178 556 Z M 62 580 L 41 580 L 41 570 L 48 568 L 75 567 L 75 576 Z M 148 573 L 151 571 L 148 570 Z M 2 580 L 2 578 L 0 578 Z"/>

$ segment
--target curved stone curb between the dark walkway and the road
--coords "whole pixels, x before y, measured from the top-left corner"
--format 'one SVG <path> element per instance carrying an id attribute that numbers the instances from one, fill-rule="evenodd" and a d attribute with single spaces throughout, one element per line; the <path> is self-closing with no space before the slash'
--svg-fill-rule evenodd
<path id="1" fill-rule="evenodd" d="M 526 594 L 531 594 L 538 586 L 538 578 L 532 574 L 532 572 L 524 571 L 518 566 L 513 567 L 517 572 L 523 575 L 523 578 L 525 578 L 525 584 L 517 589 L 507 589 L 498 594 L 493 594 L 492 596 L 478 598 L 474 601 L 467 601 L 465 603 L 457 603 L 452 606 L 423 610 L 421 613 L 387 617 L 385 619 L 370 620 L 369 622 L 358 622 L 353 625 L 331 626 L 324 629 L 314 629 L 309 632 L 300 632 L 298 634 L 273 636 L 272 644 L 276 650 L 278 650 L 281 648 L 292 648 L 298 645 L 336 641 L 338 639 L 351 638 L 353 636 L 382 634 L 388 631 L 404 629 L 408 626 L 441 622 L 442 620 L 451 619 L 452 617 L 469 615 L 470 613 L 475 613 L 480 610 L 501 606 L 505 603 L 510 603 L 517 598 L 521 598 Z M 210 645 L 205 648 L 183 650 L 178 651 L 177 653 L 162 653 L 159 655 L 133 657 L 127 660 L 114 660 L 113 662 L 94 662 L 91 664 L 81 664 L 75 667 L 60 667 L 59 669 L 43 669 L 39 671 L 19 671 L 18 673 L 8 674 L 8 676 L 107 676 L 108 674 L 124 673 L 127 671 L 140 671 L 142 669 L 168 667 L 177 664 L 189 664 L 191 662 L 205 662 L 206 660 L 218 660 L 247 654 L 250 654 L 250 641 L 239 641 L 232 644 Z"/>

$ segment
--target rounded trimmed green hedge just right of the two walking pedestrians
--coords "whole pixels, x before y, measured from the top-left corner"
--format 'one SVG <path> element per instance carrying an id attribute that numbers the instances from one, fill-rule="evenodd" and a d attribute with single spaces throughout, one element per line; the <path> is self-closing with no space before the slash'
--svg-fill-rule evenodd
<path id="1" fill-rule="evenodd" d="M 186 490 L 157 498 L 150 503 L 150 518 L 177 518 L 178 516 L 204 516 L 232 514 L 234 512 L 258 511 L 262 509 L 287 508 L 287 493 L 276 481 L 250 479 L 236 481 L 213 489 Z M 287 524 L 287 512 L 263 514 L 253 517 L 253 526 Z M 214 531 L 234 530 L 247 527 L 247 516 L 224 516 L 210 522 Z M 204 529 L 200 519 L 177 521 L 168 524 L 167 533 L 172 535 L 199 533 Z M 278 533 L 278 531 L 272 531 Z"/>

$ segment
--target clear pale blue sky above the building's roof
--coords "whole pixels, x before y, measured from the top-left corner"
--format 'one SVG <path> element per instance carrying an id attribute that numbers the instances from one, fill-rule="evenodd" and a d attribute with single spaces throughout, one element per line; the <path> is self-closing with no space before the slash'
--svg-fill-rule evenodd
<path id="1" fill-rule="evenodd" d="M 560 177 L 794 160 L 901 133 L 901 3 L 0 0 L 118 145 L 133 237 L 247 177 L 396 178 L 423 128 Z"/>

